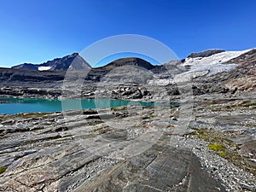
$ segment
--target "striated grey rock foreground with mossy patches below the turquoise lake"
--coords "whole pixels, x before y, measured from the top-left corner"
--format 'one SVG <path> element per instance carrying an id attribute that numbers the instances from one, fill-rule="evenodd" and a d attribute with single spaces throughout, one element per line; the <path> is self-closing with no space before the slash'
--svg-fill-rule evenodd
<path id="1" fill-rule="evenodd" d="M 255 113 L 251 92 L 1 115 L 0 191 L 255 191 Z"/>

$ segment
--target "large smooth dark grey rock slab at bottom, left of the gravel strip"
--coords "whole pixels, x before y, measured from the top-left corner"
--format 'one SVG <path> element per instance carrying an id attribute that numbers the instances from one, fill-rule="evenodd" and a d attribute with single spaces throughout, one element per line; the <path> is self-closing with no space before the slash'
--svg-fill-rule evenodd
<path id="1" fill-rule="evenodd" d="M 189 150 L 154 145 L 143 154 L 114 166 L 109 172 L 84 183 L 79 191 L 225 191 L 201 169 Z"/>

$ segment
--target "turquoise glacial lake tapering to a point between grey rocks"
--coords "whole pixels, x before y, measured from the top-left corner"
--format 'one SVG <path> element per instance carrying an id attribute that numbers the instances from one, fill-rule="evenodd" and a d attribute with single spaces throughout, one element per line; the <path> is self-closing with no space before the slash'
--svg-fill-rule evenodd
<path id="1" fill-rule="evenodd" d="M 156 106 L 167 105 L 154 102 L 134 102 L 112 99 L 38 99 L 38 98 L 0 98 L 0 113 L 39 113 L 57 112 L 71 109 L 115 108 L 127 105 Z"/>

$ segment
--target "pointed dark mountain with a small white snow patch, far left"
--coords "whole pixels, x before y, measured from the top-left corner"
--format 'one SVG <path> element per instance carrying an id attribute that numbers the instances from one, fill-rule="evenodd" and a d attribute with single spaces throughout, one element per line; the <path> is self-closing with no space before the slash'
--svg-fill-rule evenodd
<path id="1" fill-rule="evenodd" d="M 56 58 L 52 61 L 46 61 L 38 65 L 32 63 L 24 63 L 14 66 L 12 68 L 38 71 L 55 71 L 67 70 L 68 68 L 74 70 L 90 68 L 90 65 L 89 63 L 84 61 L 84 59 L 78 53 L 73 53 L 72 55 L 67 55 L 62 58 Z"/>

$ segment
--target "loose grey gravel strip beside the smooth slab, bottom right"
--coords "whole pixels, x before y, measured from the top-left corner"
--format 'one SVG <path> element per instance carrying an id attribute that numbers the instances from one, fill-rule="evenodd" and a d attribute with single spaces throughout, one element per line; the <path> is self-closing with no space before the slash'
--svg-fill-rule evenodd
<path id="1" fill-rule="evenodd" d="M 252 173 L 244 172 L 228 160 L 207 148 L 207 142 L 194 136 L 171 136 L 170 143 L 176 147 L 190 148 L 201 160 L 207 172 L 223 183 L 227 191 L 255 191 L 256 178 Z"/>

